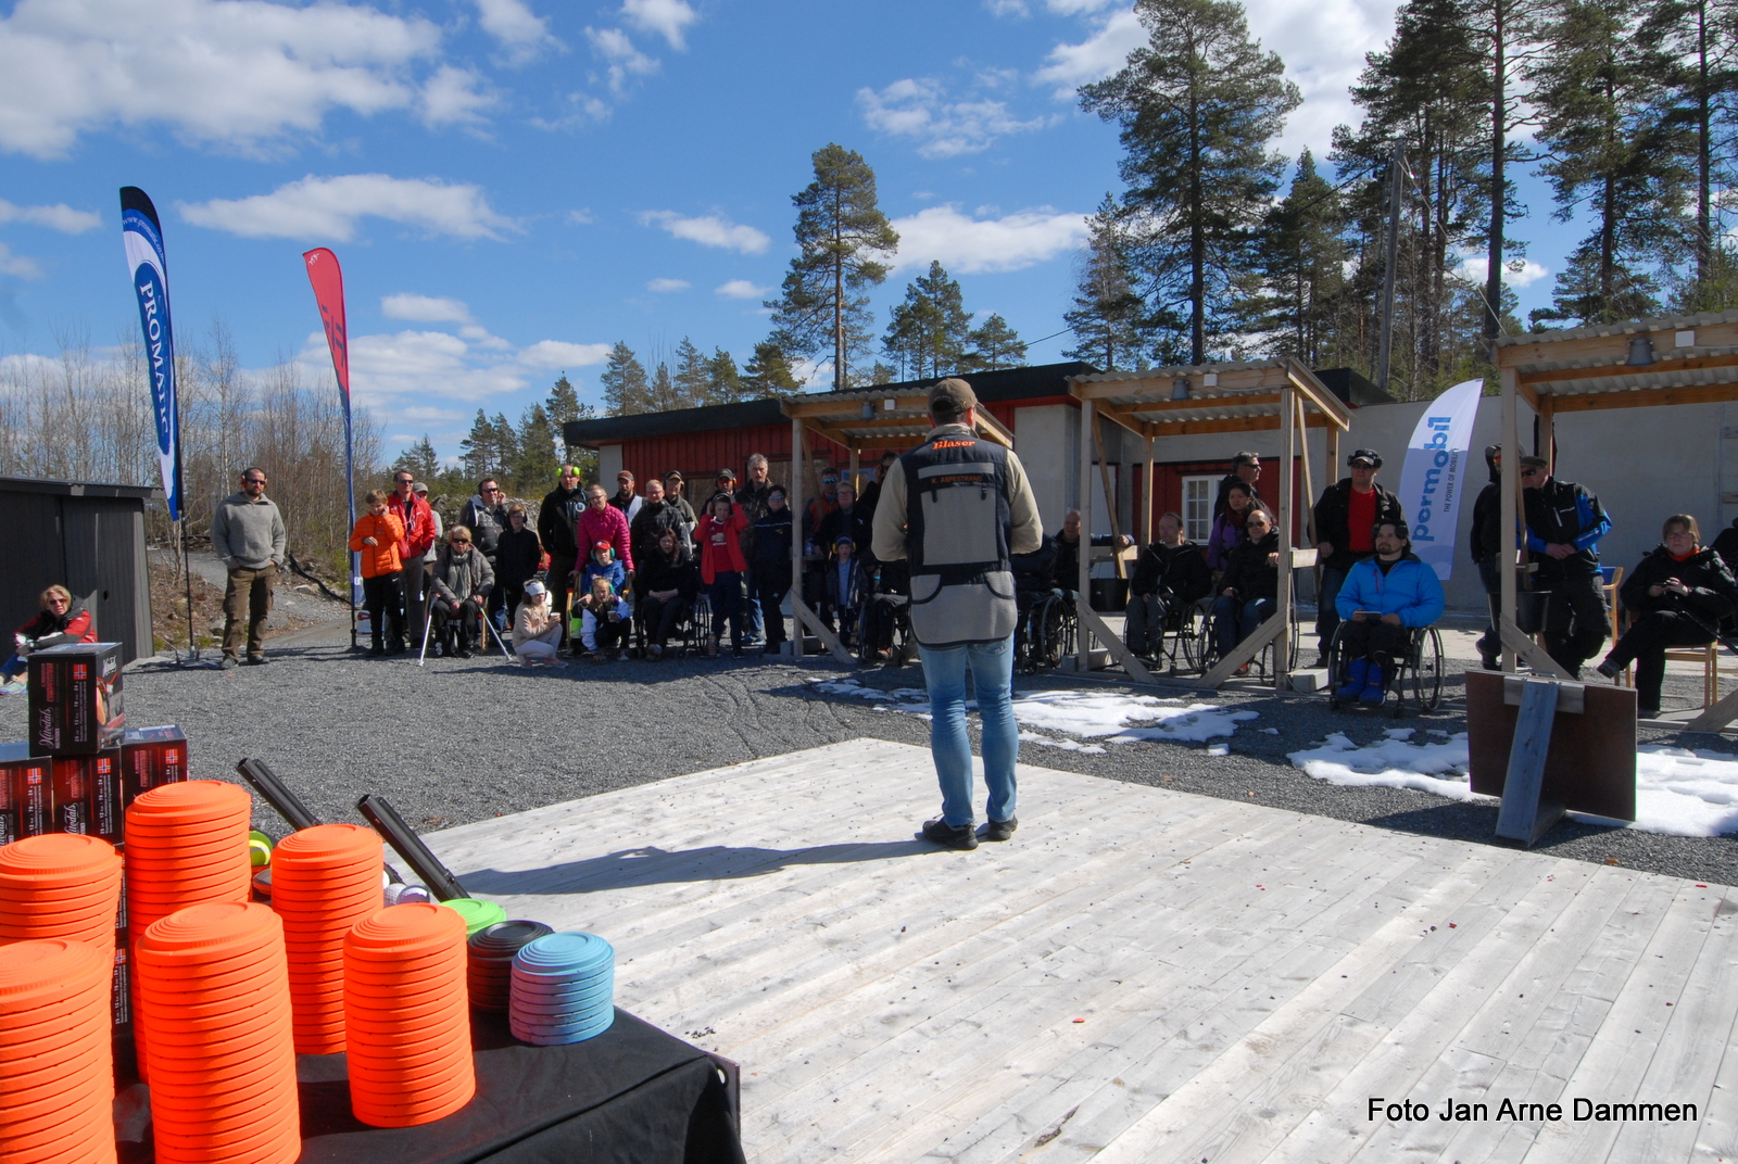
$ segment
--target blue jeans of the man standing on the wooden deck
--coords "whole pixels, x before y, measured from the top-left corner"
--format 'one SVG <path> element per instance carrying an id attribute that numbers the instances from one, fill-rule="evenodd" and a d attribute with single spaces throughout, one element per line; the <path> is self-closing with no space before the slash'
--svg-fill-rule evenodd
<path id="1" fill-rule="evenodd" d="M 923 646 L 923 681 L 930 688 L 930 752 L 942 785 L 942 820 L 972 823 L 972 740 L 966 737 L 966 669 L 984 721 L 984 785 L 991 820 L 1013 820 L 1013 763 L 1020 728 L 1013 723 L 1013 636 L 972 646 Z"/>

